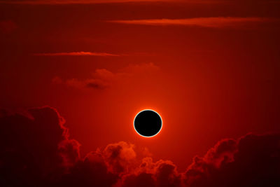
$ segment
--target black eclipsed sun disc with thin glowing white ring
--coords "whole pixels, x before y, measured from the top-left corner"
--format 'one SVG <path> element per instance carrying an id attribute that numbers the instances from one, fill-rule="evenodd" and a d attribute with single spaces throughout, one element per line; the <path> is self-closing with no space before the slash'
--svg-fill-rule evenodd
<path id="1" fill-rule="evenodd" d="M 153 110 L 144 110 L 134 118 L 134 129 L 142 137 L 154 137 L 162 129 L 162 118 Z"/>

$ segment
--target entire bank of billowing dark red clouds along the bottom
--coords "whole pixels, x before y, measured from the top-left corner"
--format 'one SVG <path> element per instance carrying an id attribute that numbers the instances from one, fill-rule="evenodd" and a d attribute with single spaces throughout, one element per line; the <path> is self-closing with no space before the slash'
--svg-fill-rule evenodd
<path id="1" fill-rule="evenodd" d="M 65 120 L 50 106 L 12 113 L 0 110 L 1 186 L 280 185 L 280 134 L 223 139 L 178 172 L 170 160 L 141 158 L 120 141 L 80 156 Z M 183 148 L 183 146 L 182 146 Z"/>

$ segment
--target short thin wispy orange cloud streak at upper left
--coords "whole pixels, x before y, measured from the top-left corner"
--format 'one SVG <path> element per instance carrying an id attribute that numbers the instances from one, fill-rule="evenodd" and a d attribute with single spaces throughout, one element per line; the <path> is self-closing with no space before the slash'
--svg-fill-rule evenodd
<path id="1" fill-rule="evenodd" d="M 93 52 L 68 52 L 68 53 L 34 53 L 36 56 L 97 56 L 97 57 L 118 57 L 120 55 L 111 53 L 93 53 Z"/>

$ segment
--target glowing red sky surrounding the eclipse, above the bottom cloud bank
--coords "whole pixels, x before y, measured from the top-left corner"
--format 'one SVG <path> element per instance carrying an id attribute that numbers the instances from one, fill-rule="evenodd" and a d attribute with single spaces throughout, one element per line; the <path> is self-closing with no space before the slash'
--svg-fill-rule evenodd
<path id="1" fill-rule="evenodd" d="M 280 1 L 100 2 L 0 1 L 1 108 L 54 107 L 80 158 L 124 141 L 179 172 L 221 139 L 279 132 Z M 162 116 L 151 139 L 142 109 Z"/>

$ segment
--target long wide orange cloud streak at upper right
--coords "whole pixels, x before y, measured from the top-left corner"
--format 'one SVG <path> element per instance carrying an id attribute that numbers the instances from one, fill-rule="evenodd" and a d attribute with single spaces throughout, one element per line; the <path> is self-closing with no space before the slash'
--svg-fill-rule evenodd
<path id="1" fill-rule="evenodd" d="M 270 21 L 269 18 L 234 18 L 234 17 L 214 17 L 214 18 L 186 18 L 186 19 L 155 19 L 155 20 L 111 20 L 109 22 L 126 25 L 153 25 L 153 26 L 188 26 L 188 27 L 246 27 L 254 23 Z"/>

